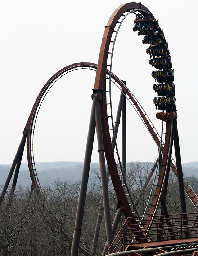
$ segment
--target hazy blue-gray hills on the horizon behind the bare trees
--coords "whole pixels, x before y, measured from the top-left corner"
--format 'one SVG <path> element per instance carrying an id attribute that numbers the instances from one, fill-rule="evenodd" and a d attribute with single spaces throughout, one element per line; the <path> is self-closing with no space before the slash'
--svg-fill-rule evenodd
<path id="1" fill-rule="evenodd" d="M 0 185 L 4 185 L 11 164 L 0 164 Z M 53 184 L 57 179 L 61 181 L 77 181 L 81 179 L 83 162 L 37 162 L 36 170 L 41 185 Z M 90 177 L 93 170 L 99 169 L 99 163 L 92 163 Z M 198 177 L 198 162 L 183 164 L 184 176 Z M 11 183 L 12 184 L 12 183 Z M 22 163 L 19 171 L 17 185 L 31 186 L 30 173 L 27 163 Z"/>

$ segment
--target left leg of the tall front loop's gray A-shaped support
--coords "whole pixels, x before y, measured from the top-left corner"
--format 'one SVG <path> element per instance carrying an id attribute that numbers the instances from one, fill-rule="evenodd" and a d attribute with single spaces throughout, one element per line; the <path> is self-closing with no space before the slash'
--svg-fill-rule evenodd
<path id="1" fill-rule="evenodd" d="M 73 232 L 71 256 L 78 255 L 78 247 L 80 244 L 80 235 L 81 235 L 81 230 L 82 230 L 82 218 L 83 218 L 83 213 L 84 213 L 84 208 L 85 208 L 87 183 L 88 183 L 88 178 L 89 178 L 91 155 L 92 155 L 93 143 L 94 143 L 95 104 L 97 101 L 98 101 L 97 96 L 93 96 L 93 103 L 92 103 L 90 123 L 89 123 L 89 131 L 88 131 L 88 135 L 87 135 L 87 144 L 86 144 L 86 150 L 85 150 L 85 159 L 84 159 L 84 165 L 83 165 L 83 169 L 82 169 L 80 193 L 79 193 L 79 197 L 78 197 L 76 221 L 75 221 L 75 227 L 73 228 L 74 232 Z"/>

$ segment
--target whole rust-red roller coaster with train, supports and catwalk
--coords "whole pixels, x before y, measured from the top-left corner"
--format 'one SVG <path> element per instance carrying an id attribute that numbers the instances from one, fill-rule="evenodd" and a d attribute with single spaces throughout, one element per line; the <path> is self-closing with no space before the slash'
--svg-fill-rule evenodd
<path id="1" fill-rule="evenodd" d="M 155 105 L 156 110 L 161 111 L 157 112 L 156 115 L 162 122 L 161 134 L 157 132 L 140 102 L 130 89 L 127 88 L 125 81 L 119 79 L 112 72 L 113 53 L 117 35 L 123 21 L 130 14 L 135 14 L 132 30 L 138 32 L 138 36 L 144 36 L 142 43 L 148 44 L 146 53 L 150 55 L 149 64 L 156 69 L 152 71 L 151 75 L 155 80 L 153 90 L 157 93 L 157 97 L 154 97 L 153 103 L 152 101 L 151 103 Z M 105 229 L 107 234 L 107 243 L 102 255 L 197 255 L 197 195 L 183 177 L 182 172 L 171 56 L 163 30 L 159 27 L 158 21 L 141 3 L 123 4 L 113 12 L 105 26 L 97 65 L 80 62 L 66 66 L 54 74 L 41 89 L 24 128 L 22 140 L 0 195 L 0 203 L 4 199 L 13 175 L 11 188 L 14 192 L 25 144 L 27 144 L 27 161 L 32 181 L 31 189 L 42 193 L 36 172 L 33 149 L 34 131 L 40 107 L 50 88 L 59 79 L 69 72 L 84 69 L 96 71 L 96 77 L 92 93 L 93 104 L 90 114 L 71 256 L 78 255 L 79 250 L 81 252 L 84 251 L 85 255 L 91 255 L 89 251 L 80 245 L 80 235 L 95 129 L 98 139 Z M 120 101 L 117 107 L 115 122 L 112 114 L 112 85 L 120 89 Z M 130 188 L 127 186 L 126 180 L 126 100 L 132 105 L 145 128 L 152 136 L 159 152 L 151 172 L 151 175 L 154 172 L 155 175 L 143 216 L 138 214 L 134 198 L 131 197 Z M 119 155 L 116 140 L 121 115 L 122 159 Z M 175 160 L 172 158 L 173 144 Z M 107 163 L 107 169 L 105 162 Z M 175 215 L 170 215 L 166 206 L 170 169 L 173 171 L 179 184 L 181 213 Z M 110 174 L 117 196 L 117 212 L 113 223 L 111 223 L 109 209 L 107 173 Z M 188 213 L 186 209 L 185 194 L 194 205 L 195 212 L 193 213 Z M 122 228 L 116 231 L 122 214 L 125 216 L 126 221 L 123 223 Z M 94 237 L 93 247 L 96 244 L 97 238 Z"/>

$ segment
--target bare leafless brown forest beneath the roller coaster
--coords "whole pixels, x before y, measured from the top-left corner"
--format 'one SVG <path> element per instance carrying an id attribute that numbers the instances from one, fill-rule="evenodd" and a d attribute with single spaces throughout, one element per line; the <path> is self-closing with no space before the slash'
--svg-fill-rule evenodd
<path id="1" fill-rule="evenodd" d="M 152 167 L 152 163 L 144 162 L 127 164 L 127 185 L 140 216 L 143 215 L 152 186 L 153 177 L 145 186 Z M 93 172 L 86 196 L 79 255 L 99 256 L 102 255 L 105 246 L 106 234 L 100 171 L 95 168 Z M 116 214 L 117 197 L 108 175 L 107 178 L 113 220 Z M 197 177 L 188 177 L 188 181 L 197 193 Z M 176 177 L 170 171 L 166 198 L 170 214 L 180 213 L 177 183 Z M 15 189 L 14 194 L 8 191 L 0 207 L 0 255 L 70 255 L 79 189 L 80 181 L 55 180 L 53 185 L 42 186 L 41 193 L 21 186 Z M 196 211 L 188 198 L 186 198 L 186 204 L 188 212 Z M 124 221 L 125 217 L 122 216 L 117 231 Z M 98 223 L 98 242 L 93 246 L 96 222 Z"/>

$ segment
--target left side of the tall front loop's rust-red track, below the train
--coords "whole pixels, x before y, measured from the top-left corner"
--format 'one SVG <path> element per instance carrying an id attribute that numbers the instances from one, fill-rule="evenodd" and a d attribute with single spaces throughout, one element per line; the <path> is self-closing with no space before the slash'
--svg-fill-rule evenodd
<path id="1" fill-rule="evenodd" d="M 95 84 L 94 84 L 95 90 L 102 90 L 103 92 L 106 91 L 105 75 L 106 75 L 106 69 L 107 69 L 109 46 L 110 46 L 110 43 L 112 42 L 111 38 L 112 38 L 113 32 L 116 32 L 114 28 L 116 24 L 119 23 L 118 20 L 121 18 L 121 16 L 125 16 L 124 13 L 128 13 L 134 9 L 143 9 L 144 11 L 149 12 L 149 10 L 145 6 L 141 5 L 141 3 L 132 2 L 132 3 L 123 4 L 114 11 L 114 13 L 112 14 L 112 16 L 110 17 L 107 23 L 107 26 L 105 26 L 105 31 L 102 39 L 101 48 L 100 48 L 98 67 L 96 71 L 96 78 L 95 78 Z M 115 159 L 114 159 L 113 151 L 111 147 L 111 138 L 109 134 L 109 124 L 108 124 L 106 103 L 107 103 L 106 94 L 103 93 L 103 99 L 100 104 L 100 108 L 101 108 L 100 110 L 102 113 L 102 126 L 104 130 L 103 141 L 104 141 L 105 154 L 106 154 L 107 164 L 109 167 L 109 173 L 111 175 L 112 182 L 114 184 L 117 183 L 116 186 L 121 187 L 120 179 L 116 175 L 117 166 L 115 163 Z M 122 195 L 121 197 L 123 198 L 124 195 Z M 123 211 L 123 213 L 125 217 L 128 217 L 128 215 L 131 214 L 131 211 L 126 201 L 122 200 L 122 198 L 118 197 L 118 203 L 120 201 L 121 203 L 120 207 L 123 209 L 126 209 L 126 211 Z"/>

